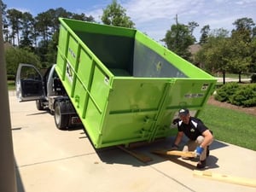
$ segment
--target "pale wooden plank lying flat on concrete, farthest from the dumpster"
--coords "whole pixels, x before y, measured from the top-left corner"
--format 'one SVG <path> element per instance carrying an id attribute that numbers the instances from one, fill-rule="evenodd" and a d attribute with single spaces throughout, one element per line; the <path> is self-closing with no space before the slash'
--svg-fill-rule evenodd
<path id="1" fill-rule="evenodd" d="M 234 176 L 224 175 L 216 172 L 197 171 L 197 170 L 194 170 L 193 175 L 195 177 L 206 177 L 212 180 L 217 180 L 225 183 L 234 183 L 234 184 L 244 185 L 247 187 L 256 188 L 256 179 L 253 179 L 253 178 L 234 177 Z"/>

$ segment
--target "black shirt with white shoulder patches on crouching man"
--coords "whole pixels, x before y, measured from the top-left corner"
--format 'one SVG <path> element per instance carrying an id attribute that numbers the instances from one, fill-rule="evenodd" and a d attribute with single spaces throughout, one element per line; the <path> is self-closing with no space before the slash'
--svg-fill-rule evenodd
<path id="1" fill-rule="evenodd" d="M 189 118 L 189 124 L 184 124 L 182 120 L 177 123 L 177 130 L 183 131 L 183 133 L 189 137 L 189 139 L 195 141 L 197 137 L 202 136 L 204 131 L 207 131 L 207 126 L 203 124 L 201 119 L 195 117 Z"/>

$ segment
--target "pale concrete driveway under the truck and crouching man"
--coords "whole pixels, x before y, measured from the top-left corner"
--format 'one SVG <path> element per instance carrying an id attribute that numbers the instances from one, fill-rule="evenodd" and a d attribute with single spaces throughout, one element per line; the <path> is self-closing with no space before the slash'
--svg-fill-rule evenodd
<path id="1" fill-rule="evenodd" d="M 172 137 L 136 148 L 153 159 L 143 163 L 119 148 L 96 151 L 82 129 L 57 130 L 52 115 L 35 102 L 17 102 L 15 92 L 9 103 L 19 192 L 256 191 L 195 177 L 195 161 L 150 153 L 170 148 Z M 207 171 L 256 179 L 255 151 L 219 141 L 211 147 Z"/>

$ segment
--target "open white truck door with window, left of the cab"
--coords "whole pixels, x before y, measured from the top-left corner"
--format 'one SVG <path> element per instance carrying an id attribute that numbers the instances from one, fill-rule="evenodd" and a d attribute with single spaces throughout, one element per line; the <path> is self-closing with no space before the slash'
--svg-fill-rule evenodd
<path id="1" fill-rule="evenodd" d="M 44 99 L 44 79 L 38 69 L 32 65 L 20 63 L 15 85 L 19 102 Z"/>

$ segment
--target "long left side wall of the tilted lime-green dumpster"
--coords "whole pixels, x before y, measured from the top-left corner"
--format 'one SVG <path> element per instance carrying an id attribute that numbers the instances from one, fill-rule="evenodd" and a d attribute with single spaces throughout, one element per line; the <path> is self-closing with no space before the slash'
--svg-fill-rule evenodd
<path id="1" fill-rule="evenodd" d="M 102 63 L 72 31 L 61 26 L 60 34 L 62 43 L 58 46 L 56 73 L 61 77 L 92 143 L 97 143 L 110 89 L 104 82 L 111 73 L 105 72 Z"/>

